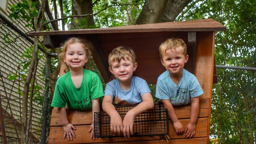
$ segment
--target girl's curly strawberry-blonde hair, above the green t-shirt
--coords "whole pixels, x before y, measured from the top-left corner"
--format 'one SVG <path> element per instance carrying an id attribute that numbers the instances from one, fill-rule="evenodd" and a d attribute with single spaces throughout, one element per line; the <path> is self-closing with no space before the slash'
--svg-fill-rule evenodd
<path id="1" fill-rule="evenodd" d="M 62 62 L 63 61 L 63 57 L 65 57 L 65 54 L 67 52 L 67 48 L 70 44 L 74 44 L 76 42 L 79 42 L 82 44 L 85 52 L 86 52 L 86 57 L 88 58 L 89 55 L 91 55 L 91 52 L 89 49 L 91 49 L 92 45 L 91 42 L 86 41 L 85 39 L 81 39 L 78 37 L 71 37 L 69 38 L 67 41 L 65 41 L 63 44 L 61 44 L 62 47 L 62 51 L 59 54 L 59 61 Z M 64 62 L 65 63 L 65 62 Z M 86 64 L 86 63 L 85 63 Z M 85 68 L 85 65 L 83 66 Z M 65 63 L 65 69 L 64 72 L 68 72 L 69 71 L 69 66 L 67 66 L 67 63 Z"/>

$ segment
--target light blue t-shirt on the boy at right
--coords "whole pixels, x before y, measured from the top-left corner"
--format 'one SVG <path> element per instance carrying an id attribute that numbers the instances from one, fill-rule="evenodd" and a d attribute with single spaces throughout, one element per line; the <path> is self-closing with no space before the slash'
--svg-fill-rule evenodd
<path id="1" fill-rule="evenodd" d="M 191 103 L 190 97 L 197 97 L 203 93 L 195 75 L 184 68 L 178 85 L 171 79 L 168 70 L 158 77 L 156 83 L 156 97 L 160 100 L 170 99 L 172 105 L 186 105 Z"/>

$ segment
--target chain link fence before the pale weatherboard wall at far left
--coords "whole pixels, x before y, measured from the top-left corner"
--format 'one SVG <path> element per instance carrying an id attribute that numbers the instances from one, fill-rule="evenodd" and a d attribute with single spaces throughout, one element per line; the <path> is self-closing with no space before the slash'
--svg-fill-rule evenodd
<path id="1" fill-rule="evenodd" d="M 22 93 L 30 65 L 32 44 L 0 20 L 0 96 L 7 143 L 19 143 L 21 137 Z M 43 93 L 45 87 L 45 58 L 39 52 L 39 64 L 33 95 L 30 143 L 41 137 Z M 29 95 L 30 97 L 30 95 Z M 2 135 L 2 133 L 0 134 Z M 2 140 L 2 137 L 1 137 Z"/>

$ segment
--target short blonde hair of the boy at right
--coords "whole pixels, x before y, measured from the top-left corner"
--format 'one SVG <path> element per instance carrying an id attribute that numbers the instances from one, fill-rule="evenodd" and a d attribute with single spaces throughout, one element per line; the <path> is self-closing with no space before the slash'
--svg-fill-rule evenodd
<path id="1" fill-rule="evenodd" d="M 178 39 L 178 38 L 172 38 L 172 39 L 167 39 L 166 41 L 164 41 L 160 46 L 159 46 L 159 54 L 160 54 L 160 58 L 163 58 L 163 54 L 167 51 L 167 50 L 175 50 L 177 47 L 181 46 L 183 48 L 183 54 L 186 57 L 187 55 L 187 45 L 185 44 L 185 42 L 182 39 Z"/>

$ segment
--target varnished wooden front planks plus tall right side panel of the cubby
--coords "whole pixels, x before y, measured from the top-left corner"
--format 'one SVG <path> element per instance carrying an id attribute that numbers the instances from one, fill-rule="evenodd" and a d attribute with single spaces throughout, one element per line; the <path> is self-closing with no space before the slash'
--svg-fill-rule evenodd
<path id="1" fill-rule="evenodd" d="M 194 74 L 197 77 L 204 94 L 200 96 L 200 109 L 196 124 L 196 134 L 193 138 L 185 138 L 185 133 L 177 135 L 173 128 L 173 123 L 169 120 L 169 143 L 187 143 L 187 144 L 208 144 L 210 134 L 210 116 L 211 116 L 211 94 L 213 83 L 213 65 L 214 65 L 214 35 L 213 31 L 197 32 L 197 46 L 195 53 Z M 104 41 L 107 41 L 104 39 Z M 124 43 L 126 40 L 123 41 Z M 102 43 L 102 42 L 101 42 Z M 103 42 L 104 43 L 104 42 Z M 108 42 L 104 43 L 108 44 Z M 104 46 L 105 47 L 105 46 Z M 113 46 L 112 46 L 113 47 Z M 137 52 L 138 49 L 135 48 Z M 106 51 L 105 51 L 106 52 Z M 110 50 L 109 50 L 110 52 Z M 150 52 L 150 51 L 148 51 Z M 108 52 L 107 52 L 108 53 Z M 154 55 L 154 54 L 152 54 Z M 105 57 L 107 57 L 105 55 Z M 142 61 L 141 61 L 142 62 Z M 190 63 L 193 64 L 193 63 Z M 178 119 L 186 128 L 191 114 L 191 105 L 174 107 Z M 63 139 L 63 127 L 60 124 L 58 109 L 53 109 L 50 122 L 49 144 L 88 144 L 88 143 L 116 143 L 116 144 L 165 144 L 167 141 L 160 136 L 153 137 L 130 137 L 130 138 L 98 138 L 92 140 L 91 133 L 88 132 L 91 125 L 92 113 L 88 111 L 75 111 L 67 109 L 68 120 L 76 126 L 76 138 L 72 141 Z"/>

